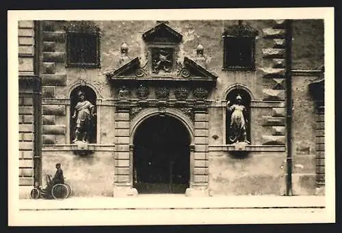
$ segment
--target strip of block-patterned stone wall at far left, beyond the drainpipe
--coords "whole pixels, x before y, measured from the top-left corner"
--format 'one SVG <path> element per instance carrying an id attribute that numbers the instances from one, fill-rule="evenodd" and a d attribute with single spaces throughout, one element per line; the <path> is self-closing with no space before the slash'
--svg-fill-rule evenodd
<path id="1" fill-rule="evenodd" d="M 28 197 L 34 186 L 34 21 L 18 21 L 19 86 L 19 197 Z"/>

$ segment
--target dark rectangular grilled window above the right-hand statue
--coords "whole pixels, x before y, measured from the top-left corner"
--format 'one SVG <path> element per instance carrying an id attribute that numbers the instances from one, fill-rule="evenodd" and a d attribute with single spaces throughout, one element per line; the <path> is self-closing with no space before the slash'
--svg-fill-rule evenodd
<path id="1" fill-rule="evenodd" d="M 224 69 L 254 70 L 254 37 L 224 37 Z"/>

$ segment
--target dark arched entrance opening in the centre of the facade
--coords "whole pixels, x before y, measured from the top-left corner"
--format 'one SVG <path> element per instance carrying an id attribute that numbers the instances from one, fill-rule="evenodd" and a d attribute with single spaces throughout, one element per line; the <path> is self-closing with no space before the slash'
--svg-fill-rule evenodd
<path id="1" fill-rule="evenodd" d="M 190 137 L 179 120 L 152 116 L 137 128 L 133 143 L 133 182 L 138 193 L 185 193 Z"/>

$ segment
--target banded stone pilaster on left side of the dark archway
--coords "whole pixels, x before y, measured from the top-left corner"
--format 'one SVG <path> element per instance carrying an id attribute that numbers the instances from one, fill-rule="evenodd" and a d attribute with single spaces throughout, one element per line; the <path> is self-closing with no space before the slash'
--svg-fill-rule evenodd
<path id="1" fill-rule="evenodd" d="M 137 195 L 133 188 L 133 148 L 129 146 L 129 108 L 116 107 L 114 197 Z"/>

